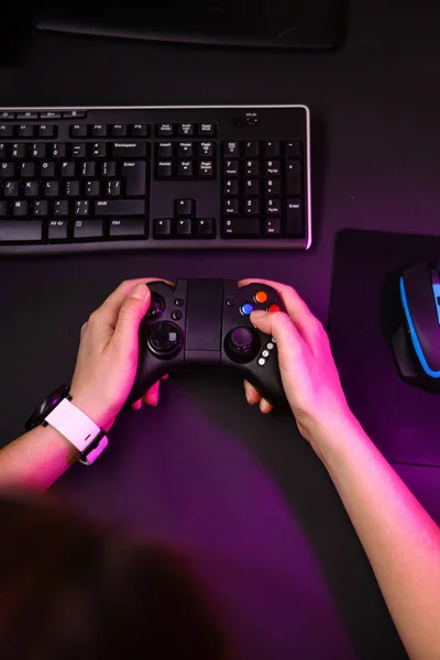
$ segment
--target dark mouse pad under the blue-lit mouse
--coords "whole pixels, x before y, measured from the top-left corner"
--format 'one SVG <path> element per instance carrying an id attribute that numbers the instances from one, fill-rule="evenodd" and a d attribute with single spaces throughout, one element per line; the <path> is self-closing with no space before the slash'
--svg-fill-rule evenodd
<path id="1" fill-rule="evenodd" d="M 439 255 L 438 237 L 344 230 L 336 241 L 329 309 L 334 360 L 353 413 L 394 463 L 440 466 L 440 394 L 403 382 L 388 343 L 399 272 Z"/>

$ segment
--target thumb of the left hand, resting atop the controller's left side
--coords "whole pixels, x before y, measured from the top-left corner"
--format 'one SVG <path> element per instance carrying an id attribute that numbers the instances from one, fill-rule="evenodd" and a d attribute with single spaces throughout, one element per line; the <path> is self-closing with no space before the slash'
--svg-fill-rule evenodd
<path id="1" fill-rule="evenodd" d="M 136 284 L 119 310 L 113 333 L 113 339 L 119 345 L 125 345 L 129 350 L 132 345 L 138 346 L 139 326 L 150 307 L 150 302 L 151 293 L 148 287 L 145 284 Z"/>

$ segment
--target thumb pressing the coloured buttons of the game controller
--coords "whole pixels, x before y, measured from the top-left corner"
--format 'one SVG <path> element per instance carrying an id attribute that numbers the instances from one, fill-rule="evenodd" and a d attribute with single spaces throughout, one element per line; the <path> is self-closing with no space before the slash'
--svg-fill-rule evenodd
<path id="1" fill-rule="evenodd" d="M 280 369 L 289 369 L 298 352 L 302 350 L 304 339 L 295 328 L 290 317 L 284 311 L 257 310 L 251 314 L 251 322 L 274 338 L 278 349 Z"/>

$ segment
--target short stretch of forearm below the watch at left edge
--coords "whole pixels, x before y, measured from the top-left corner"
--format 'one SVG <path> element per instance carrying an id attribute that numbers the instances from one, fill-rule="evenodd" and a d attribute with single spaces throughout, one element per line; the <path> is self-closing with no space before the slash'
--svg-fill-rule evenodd
<path id="1" fill-rule="evenodd" d="M 0 487 L 45 491 L 78 452 L 53 427 L 36 427 L 0 450 Z"/>

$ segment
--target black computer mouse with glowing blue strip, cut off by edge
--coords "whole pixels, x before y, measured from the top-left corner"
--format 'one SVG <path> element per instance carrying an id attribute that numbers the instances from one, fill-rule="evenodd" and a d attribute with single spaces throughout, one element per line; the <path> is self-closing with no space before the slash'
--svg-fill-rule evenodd
<path id="1" fill-rule="evenodd" d="M 392 339 L 402 377 L 440 392 L 440 263 L 417 264 L 398 282 L 400 323 Z"/>

